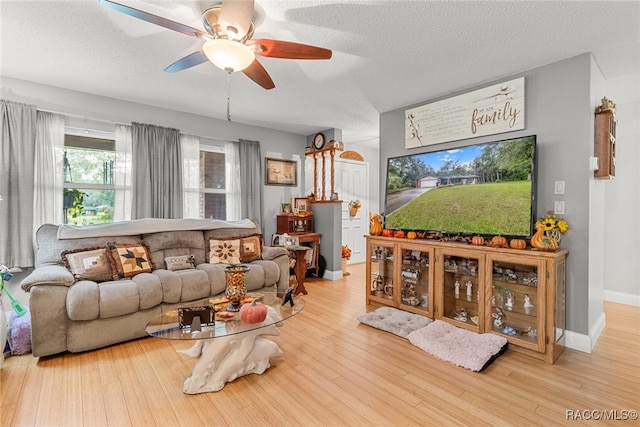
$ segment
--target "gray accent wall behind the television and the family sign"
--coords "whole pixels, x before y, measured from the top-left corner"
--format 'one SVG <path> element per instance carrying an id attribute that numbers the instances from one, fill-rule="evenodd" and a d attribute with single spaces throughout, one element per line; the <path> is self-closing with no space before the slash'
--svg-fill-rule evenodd
<path id="1" fill-rule="evenodd" d="M 589 335 L 591 319 L 602 316 L 601 281 L 590 280 L 590 267 L 602 270 L 602 259 L 589 257 L 589 195 L 593 173 L 589 157 L 593 155 L 593 111 L 601 93 L 592 94 L 592 72 L 599 73 L 591 55 L 584 54 L 521 74 L 504 76 L 441 97 L 425 99 L 389 111 L 380 116 L 380 200 L 384 200 L 387 158 L 443 148 L 537 135 L 538 217 L 553 210 L 555 200 L 565 201 L 565 217 L 571 231 L 561 246 L 570 251 L 567 261 L 567 329 Z M 525 129 L 488 137 L 437 144 L 429 148 L 407 150 L 404 147 L 404 111 L 418 105 L 449 98 L 488 85 L 525 77 Z M 554 183 L 565 181 L 566 194 L 554 195 Z M 591 265 L 590 265 L 591 264 Z M 590 296 L 591 293 L 591 296 Z M 596 296 L 593 299 L 593 296 Z M 600 296 L 598 296 L 600 295 Z M 597 337 L 596 337 L 597 339 Z"/>

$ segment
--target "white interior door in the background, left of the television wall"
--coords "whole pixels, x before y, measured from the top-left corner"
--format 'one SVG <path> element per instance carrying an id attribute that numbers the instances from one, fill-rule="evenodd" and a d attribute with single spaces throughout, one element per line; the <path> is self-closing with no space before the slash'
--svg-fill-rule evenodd
<path id="1" fill-rule="evenodd" d="M 369 163 L 337 159 L 336 191 L 342 200 L 342 244 L 351 248 L 349 264 L 365 261 L 369 233 Z M 356 216 L 349 214 L 349 202 L 360 200 L 362 207 Z"/>

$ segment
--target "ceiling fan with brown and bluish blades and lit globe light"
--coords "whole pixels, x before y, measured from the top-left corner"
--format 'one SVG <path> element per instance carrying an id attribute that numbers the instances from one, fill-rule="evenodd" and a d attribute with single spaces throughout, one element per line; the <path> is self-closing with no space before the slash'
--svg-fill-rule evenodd
<path id="1" fill-rule="evenodd" d="M 99 0 L 100 4 L 151 22 L 152 24 L 204 40 L 202 49 L 169 65 L 164 71 L 175 73 L 211 61 L 227 73 L 242 71 L 247 77 L 265 89 L 275 84 L 269 73 L 258 62 L 256 55 L 283 59 L 330 59 L 331 50 L 272 39 L 252 39 L 253 0 L 223 0 L 202 14 L 205 31 L 134 9 L 110 0 Z"/>

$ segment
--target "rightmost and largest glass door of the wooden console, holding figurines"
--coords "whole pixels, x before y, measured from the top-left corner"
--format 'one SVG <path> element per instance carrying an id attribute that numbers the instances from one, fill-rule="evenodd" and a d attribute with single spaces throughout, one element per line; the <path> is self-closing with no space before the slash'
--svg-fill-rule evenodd
<path id="1" fill-rule="evenodd" d="M 514 262 L 492 255 L 487 271 L 491 312 L 486 316 L 486 330 L 520 347 L 544 352 L 545 263 L 525 258 Z"/>

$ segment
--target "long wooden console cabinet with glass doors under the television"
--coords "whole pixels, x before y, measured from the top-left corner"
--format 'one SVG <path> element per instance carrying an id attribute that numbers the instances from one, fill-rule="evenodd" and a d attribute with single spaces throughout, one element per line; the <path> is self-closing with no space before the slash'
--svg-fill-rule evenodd
<path id="1" fill-rule="evenodd" d="M 366 302 L 499 334 L 554 363 L 564 350 L 567 255 L 367 236 Z"/>

